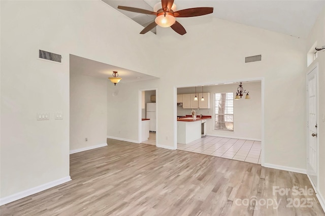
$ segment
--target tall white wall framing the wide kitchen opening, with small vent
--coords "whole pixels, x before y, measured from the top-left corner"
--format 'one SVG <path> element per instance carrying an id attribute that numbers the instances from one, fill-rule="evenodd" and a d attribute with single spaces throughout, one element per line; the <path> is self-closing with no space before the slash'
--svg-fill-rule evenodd
<path id="1" fill-rule="evenodd" d="M 170 96 L 173 87 L 263 77 L 265 163 L 304 171 L 306 41 L 204 16 L 182 19 L 182 25 L 187 30 L 184 36 L 158 28 L 161 45 L 173 45 L 173 52 L 164 56 L 169 67 L 161 72 L 164 86 L 159 93 Z M 259 54 L 262 61 L 244 63 L 245 57 Z M 159 97 L 158 109 L 164 110 L 164 116 L 158 116 L 158 129 L 164 127 L 167 137 L 173 137 L 170 121 L 176 117 L 171 109 L 175 103 L 176 99 Z"/>

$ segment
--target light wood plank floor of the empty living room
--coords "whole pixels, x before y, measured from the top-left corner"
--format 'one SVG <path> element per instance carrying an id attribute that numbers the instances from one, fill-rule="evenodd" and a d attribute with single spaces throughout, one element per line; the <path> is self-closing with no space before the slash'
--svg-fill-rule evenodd
<path id="1" fill-rule="evenodd" d="M 3 205 L 1 215 L 325 215 L 314 194 L 273 193 L 312 188 L 306 175 L 258 164 L 111 139 L 70 160 L 72 181 Z M 297 206 L 307 198 L 311 207 Z M 264 204 L 274 199 L 279 206 Z"/>

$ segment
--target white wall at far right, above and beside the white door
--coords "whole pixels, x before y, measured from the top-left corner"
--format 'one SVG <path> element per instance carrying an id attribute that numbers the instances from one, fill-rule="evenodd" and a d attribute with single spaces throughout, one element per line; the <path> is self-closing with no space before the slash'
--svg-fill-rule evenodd
<path id="1" fill-rule="evenodd" d="M 307 40 L 306 54 L 313 44 L 316 42 L 316 47 L 320 48 L 325 46 L 325 8 L 322 10 L 322 13 L 317 18 Z M 317 137 L 319 143 L 319 182 L 318 193 L 321 194 L 323 200 L 322 203 L 325 205 L 325 122 L 322 119 L 325 115 L 325 51 L 318 51 L 318 57 L 316 60 L 310 64 L 306 72 L 310 71 L 318 63 L 318 117 L 317 117 Z M 307 58 L 307 57 L 306 57 Z M 324 206 L 323 206 L 324 207 Z"/>

